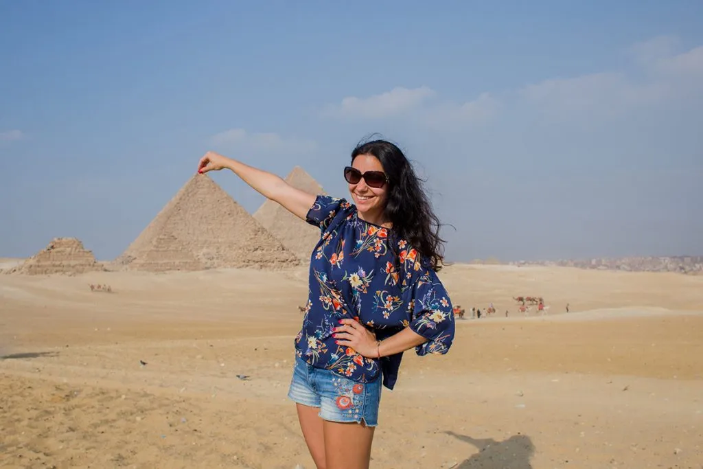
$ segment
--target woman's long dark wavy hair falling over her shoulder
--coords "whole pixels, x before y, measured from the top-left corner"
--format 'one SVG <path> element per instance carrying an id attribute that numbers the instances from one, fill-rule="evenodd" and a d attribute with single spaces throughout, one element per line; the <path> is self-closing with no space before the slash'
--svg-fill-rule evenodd
<path id="1" fill-rule="evenodd" d="M 388 176 L 385 216 L 392 223 L 392 236 L 408 241 L 434 271 L 439 271 L 444 264 L 444 239 L 439 236 L 441 222 L 411 162 L 400 148 L 385 140 L 359 143 L 352 151 L 352 163 L 359 155 L 378 158 Z M 397 242 L 390 244 L 397 253 Z"/>

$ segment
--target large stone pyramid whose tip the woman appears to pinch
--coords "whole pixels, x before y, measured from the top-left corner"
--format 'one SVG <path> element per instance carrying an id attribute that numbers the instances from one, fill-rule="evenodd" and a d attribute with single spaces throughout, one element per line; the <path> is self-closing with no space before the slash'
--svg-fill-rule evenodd
<path id="1" fill-rule="evenodd" d="M 299 260 L 205 174 L 195 174 L 115 259 L 127 269 L 275 268 Z"/>

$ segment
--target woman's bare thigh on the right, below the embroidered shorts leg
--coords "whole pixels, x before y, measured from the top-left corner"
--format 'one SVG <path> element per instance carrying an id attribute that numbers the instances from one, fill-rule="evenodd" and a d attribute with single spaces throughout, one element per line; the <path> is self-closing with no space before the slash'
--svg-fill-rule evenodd
<path id="1" fill-rule="evenodd" d="M 375 427 L 323 420 L 326 469 L 368 469 Z"/>

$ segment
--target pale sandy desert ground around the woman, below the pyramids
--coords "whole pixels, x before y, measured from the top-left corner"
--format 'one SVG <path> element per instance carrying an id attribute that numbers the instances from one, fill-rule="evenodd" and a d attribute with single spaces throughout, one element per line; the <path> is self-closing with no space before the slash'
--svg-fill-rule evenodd
<path id="1" fill-rule="evenodd" d="M 498 314 L 458 321 L 446 356 L 406 354 L 373 468 L 703 467 L 703 276 L 441 278 L 456 304 Z M 314 468 L 285 397 L 306 281 L 0 275 L 0 467 Z M 517 314 L 517 295 L 545 297 L 548 315 Z"/>

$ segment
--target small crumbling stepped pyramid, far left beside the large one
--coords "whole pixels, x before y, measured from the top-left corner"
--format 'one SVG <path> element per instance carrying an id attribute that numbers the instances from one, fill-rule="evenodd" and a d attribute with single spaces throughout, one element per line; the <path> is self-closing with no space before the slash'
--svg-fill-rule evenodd
<path id="1" fill-rule="evenodd" d="M 105 270 L 77 238 L 53 238 L 46 248 L 7 274 L 83 274 Z"/>

